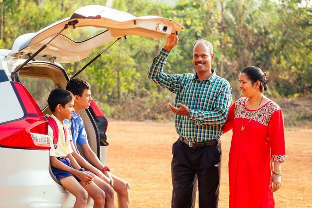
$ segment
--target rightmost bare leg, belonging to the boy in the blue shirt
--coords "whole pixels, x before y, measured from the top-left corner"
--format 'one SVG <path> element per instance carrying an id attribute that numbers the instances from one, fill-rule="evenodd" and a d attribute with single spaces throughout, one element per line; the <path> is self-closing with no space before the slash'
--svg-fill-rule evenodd
<path id="1" fill-rule="evenodd" d="M 125 180 L 111 173 L 114 180 L 114 190 L 117 193 L 118 208 L 131 208 L 130 204 L 130 186 Z"/>

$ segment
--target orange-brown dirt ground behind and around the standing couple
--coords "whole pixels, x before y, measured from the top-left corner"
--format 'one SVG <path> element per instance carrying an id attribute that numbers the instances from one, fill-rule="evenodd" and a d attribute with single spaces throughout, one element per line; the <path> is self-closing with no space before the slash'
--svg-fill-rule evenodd
<path id="1" fill-rule="evenodd" d="M 275 194 L 276 208 L 311 208 L 312 129 L 289 129 L 285 135 L 287 159 L 282 165 L 282 187 Z M 219 208 L 227 208 L 229 202 L 231 136 L 229 132 L 221 137 Z M 108 138 L 107 164 L 112 173 L 130 183 L 132 208 L 170 208 L 171 146 L 177 139 L 174 124 L 110 121 Z"/>

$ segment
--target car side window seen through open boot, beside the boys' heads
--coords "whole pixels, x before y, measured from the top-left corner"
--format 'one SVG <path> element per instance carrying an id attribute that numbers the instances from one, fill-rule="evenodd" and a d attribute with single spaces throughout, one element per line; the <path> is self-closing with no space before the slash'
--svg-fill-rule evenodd
<path id="1" fill-rule="evenodd" d="M 48 104 L 48 96 L 51 90 L 55 88 L 54 82 L 51 79 L 22 76 L 19 76 L 19 81 L 27 88 L 40 109 L 44 110 Z"/>

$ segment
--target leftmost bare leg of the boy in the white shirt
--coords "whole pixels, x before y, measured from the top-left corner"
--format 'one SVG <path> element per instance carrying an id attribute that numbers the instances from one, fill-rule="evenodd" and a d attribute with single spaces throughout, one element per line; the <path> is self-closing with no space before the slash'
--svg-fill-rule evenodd
<path id="1" fill-rule="evenodd" d="M 79 182 L 72 176 L 61 178 L 60 182 L 65 189 L 75 196 L 76 202 L 73 208 L 86 208 L 88 193 Z"/>

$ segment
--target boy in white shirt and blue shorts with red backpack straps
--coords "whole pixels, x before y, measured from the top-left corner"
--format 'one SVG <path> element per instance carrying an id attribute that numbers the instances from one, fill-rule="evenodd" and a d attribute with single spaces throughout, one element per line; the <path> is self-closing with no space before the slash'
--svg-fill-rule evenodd
<path id="1" fill-rule="evenodd" d="M 104 208 L 105 193 L 95 183 L 92 183 L 94 176 L 85 172 L 74 157 L 70 141 L 68 127 L 64 119 L 70 119 L 74 112 L 74 96 L 71 92 L 55 88 L 48 97 L 48 105 L 52 112 L 49 120 L 52 120 L 54 127 L 58 129 L 58 140 L 55 140 L 54 131 L 49 124 L 48 135 L 51 145 L 50 164 L 53 175 L 60 181 L 63 187 L 76 197 L 74 208 L 85 208 L 88 195 L 94 201 L 93 208 Z M 54 128 L 53 127 L 53 128 Z M 55 144 L 56 143 L 56 144 Z"/>

